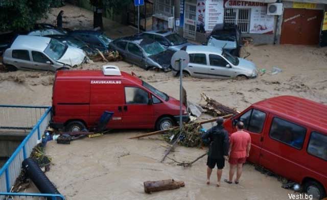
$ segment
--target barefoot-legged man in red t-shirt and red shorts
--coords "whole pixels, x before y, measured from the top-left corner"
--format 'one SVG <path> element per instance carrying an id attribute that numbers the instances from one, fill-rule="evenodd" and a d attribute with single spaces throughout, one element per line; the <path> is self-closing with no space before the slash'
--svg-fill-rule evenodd
<path id="1" fill-rule="evenodd" d="M 226 183 L 231 184 L 237 167 L 237 176 L 235 184 L 239 184 L 240 177 L 242 175 L 242 167 L 249 157 L 251 147 L 250 134 L 243 131 L 244 123 L 239 121 L 236 124 L 237 132 L 232 133 L 229 137 L 229 180 L 225 179 Z"/>

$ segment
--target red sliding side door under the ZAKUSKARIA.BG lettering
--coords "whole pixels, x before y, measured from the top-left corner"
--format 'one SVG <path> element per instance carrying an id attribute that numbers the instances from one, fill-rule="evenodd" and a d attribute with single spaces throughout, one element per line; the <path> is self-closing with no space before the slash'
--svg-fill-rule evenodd
<path id="1" fill-rule="evenodd" d="M 121 80 L 90 80 L 90 125 L 95 126 L 104 111 L 114 112 L 107 124 L 110 129 L 123 128 L 124 88 Z"/>

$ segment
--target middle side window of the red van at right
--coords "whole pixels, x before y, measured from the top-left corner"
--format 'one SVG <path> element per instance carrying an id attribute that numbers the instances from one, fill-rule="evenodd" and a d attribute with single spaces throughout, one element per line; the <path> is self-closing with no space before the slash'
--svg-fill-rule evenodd
<path id="1" fill-rule="evenodd" d="M 292 122 L 274 117 L 270 128 L 270 137 L 294 148 L 301 149 L 307 129 Z"/>

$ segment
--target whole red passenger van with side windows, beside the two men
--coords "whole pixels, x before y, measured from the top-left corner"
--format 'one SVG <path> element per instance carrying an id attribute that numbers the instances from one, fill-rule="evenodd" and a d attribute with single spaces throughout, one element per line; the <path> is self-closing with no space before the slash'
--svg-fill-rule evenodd
<path id="1" fill-rule="evenodd" d="M 251 135 L 248 161 L 302 184 L 317 198 L 327 190 L 327 106 L 295 96 L 255 103 L 224 122 L 231 134 L 243 121 Z"/>

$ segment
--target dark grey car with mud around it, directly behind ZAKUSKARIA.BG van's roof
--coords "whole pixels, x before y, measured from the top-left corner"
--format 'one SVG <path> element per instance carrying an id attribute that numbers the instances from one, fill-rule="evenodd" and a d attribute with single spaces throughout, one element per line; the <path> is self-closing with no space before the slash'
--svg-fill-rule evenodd
<path id="1" fill-rule="evenodd" d="M 113 40 L 109 47 L 117 50 L 126 62 L 144 69 L 159 68 L 165 72 L 171 70 L 170 60 L 174 52 L 152 39 L 124 37 Z"/>

